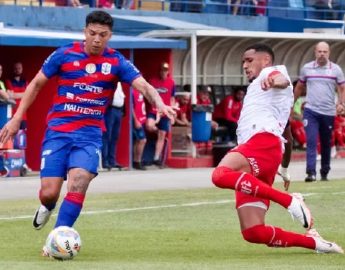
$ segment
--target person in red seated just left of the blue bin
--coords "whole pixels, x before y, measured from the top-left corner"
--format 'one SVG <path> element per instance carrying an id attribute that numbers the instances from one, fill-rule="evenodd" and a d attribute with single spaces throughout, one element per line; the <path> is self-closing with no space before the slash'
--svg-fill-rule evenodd
<path id="1" fill-rule="evenodd" d="M 191 103 L 190 93 L 182 92 L 176 95 L 176 105 L 179 110 L 176 112 L 175 125 L 176 126 L 190 126 L 191 125 Z"/>

